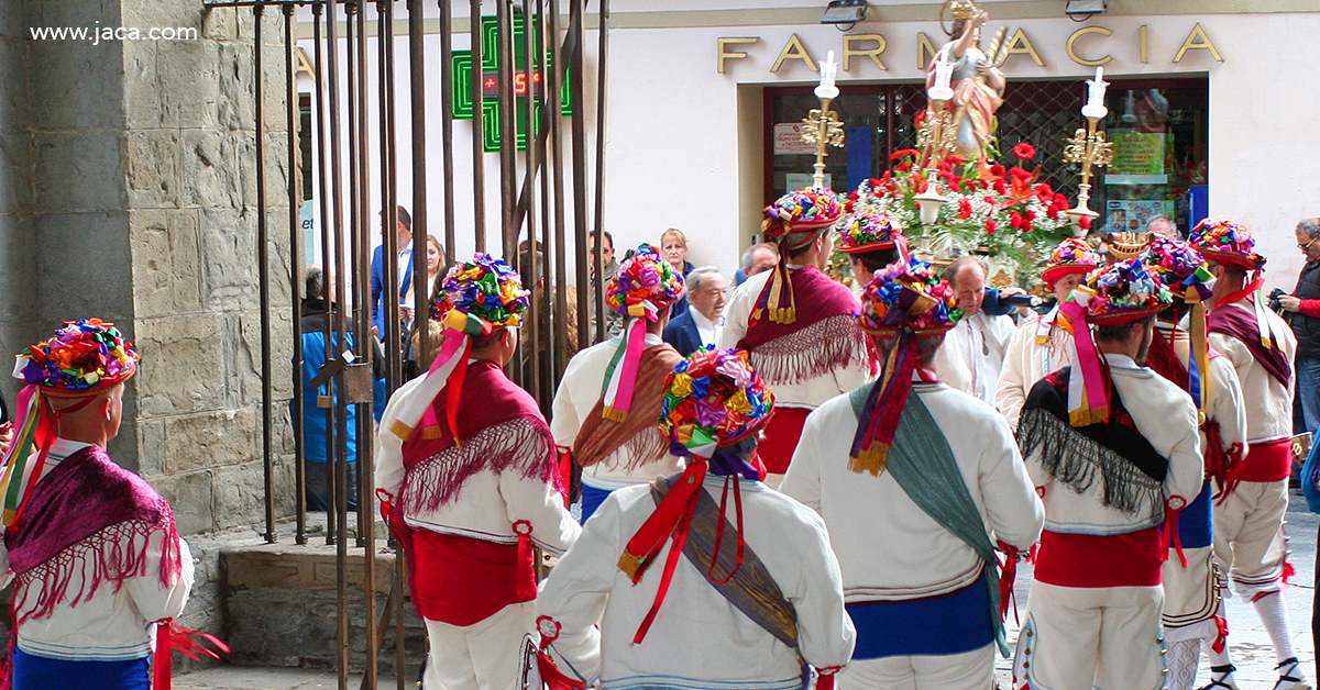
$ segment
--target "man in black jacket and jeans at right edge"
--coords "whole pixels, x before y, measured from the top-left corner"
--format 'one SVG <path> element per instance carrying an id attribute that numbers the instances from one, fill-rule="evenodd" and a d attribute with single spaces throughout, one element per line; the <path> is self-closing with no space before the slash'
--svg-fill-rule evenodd
<path id="1" fill-rule="evenodd" d="M 1294 429 L 1294 433 L 1302 434 L 1320 427 L 1320 241 L 1316 241 L 1320 218 L 1298 223 L 1296 235 L 1298 249 L 1305 255 L 1307 265 L 1302 267 L 1292 294 L 1280 294 L 1275 299 L 1298 336 L 1296 396 L 1305 427 Z"/>

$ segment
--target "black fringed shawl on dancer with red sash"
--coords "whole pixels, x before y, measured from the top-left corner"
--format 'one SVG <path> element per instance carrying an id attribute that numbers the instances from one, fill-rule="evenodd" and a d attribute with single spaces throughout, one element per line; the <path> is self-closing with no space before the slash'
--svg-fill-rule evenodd
<path id="1" fill-rule="evenodd" d="M 1039 454 L 1040 464 L 1059 483 L 1086 493 L 1098 483 L 1101 505 L 1118 512 L 1162 518 L 1168 459 L 1137 430 L 1107 376 L 1109 420 L 1072 426 L 1068 414 L 1069 369 L 1045 376 L 1031 388 L 1022 408 L 1018 446 L 1022 456 Z"/>

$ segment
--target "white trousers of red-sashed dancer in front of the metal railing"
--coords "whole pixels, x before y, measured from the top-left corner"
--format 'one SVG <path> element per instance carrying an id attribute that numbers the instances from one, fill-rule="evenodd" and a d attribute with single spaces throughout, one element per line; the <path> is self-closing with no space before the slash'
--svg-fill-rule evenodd
<path id="1" fill-rule="evenodd" d="M 513 690 L 523 637 L 536 629 L 536 602 L 506 606 L 473 625 L 425 623 L 430 658 L 422 690 Z"/>

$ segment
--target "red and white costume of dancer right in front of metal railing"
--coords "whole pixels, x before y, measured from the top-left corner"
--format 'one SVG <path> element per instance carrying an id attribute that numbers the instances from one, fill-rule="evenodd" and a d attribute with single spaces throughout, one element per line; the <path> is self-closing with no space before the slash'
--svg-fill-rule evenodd
<path id="1" fill-rule="evenodd" d="M 425 381 L 391 397 L 376 455 L 378 493 L 401 533 L 430 641 L 424 687 L 512 690 L 521 640 L 536 629 L 531 545 L 561 554 L 581 528 L 564 505 L 549 426 L 498 363 L 469 361 L 461 443 L 445 391 L 416 427 L 400 422 Z"/>

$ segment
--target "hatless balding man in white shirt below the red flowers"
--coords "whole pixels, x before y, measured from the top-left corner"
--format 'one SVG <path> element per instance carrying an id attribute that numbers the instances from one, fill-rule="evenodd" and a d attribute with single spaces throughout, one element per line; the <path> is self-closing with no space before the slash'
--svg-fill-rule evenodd
<path id="1" fill-rule="evenodd" d="M 986 268 L 975 257 L 954 259 L 944 278 L 953 286 L 962 319 L 944 338 L 935 369 L 941 381 L 994 405 L 1003 354 L 1012 338 L 1012 319 L 981 310 L 986 297 Z"/>

